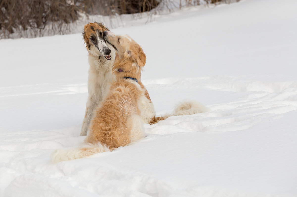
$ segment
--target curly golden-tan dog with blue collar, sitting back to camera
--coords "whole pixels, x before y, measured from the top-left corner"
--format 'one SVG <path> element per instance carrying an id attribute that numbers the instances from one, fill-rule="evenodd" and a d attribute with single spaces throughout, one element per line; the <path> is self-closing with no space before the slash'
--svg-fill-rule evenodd
<path id="1" fill-rule="evenodd" d="M 146 55 L 128 35 L 104 32 L 105 39 L 117 54 L 113 66 L 116 80 L 104 101 L 94 111 L 85 143 L 74 149 L 60 149 L 51 155 L 53 162 L 84 158 L 98 152 L 114 150 L 143 137 L 143 103 L 148 93 L 140 82 Z"/>

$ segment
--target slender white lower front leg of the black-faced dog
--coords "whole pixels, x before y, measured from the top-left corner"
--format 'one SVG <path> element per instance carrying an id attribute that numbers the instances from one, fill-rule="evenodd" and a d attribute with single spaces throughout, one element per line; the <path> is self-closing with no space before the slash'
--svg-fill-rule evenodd
<path id="1" fill-rule="evenodd" d="M 86 113 L 85 113 L 85 117 L 83 118 L 83 126 L 81 127 L 80 136 L 87 135 L 95 107 L 96 107 L 96 101 L 93 99 L 93 96 L 91 96 L 87 101 Z"/>

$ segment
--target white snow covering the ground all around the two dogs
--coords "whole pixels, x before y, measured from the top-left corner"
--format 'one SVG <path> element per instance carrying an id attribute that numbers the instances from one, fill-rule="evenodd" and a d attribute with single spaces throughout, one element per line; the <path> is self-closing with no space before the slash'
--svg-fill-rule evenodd
<path id="1" fill-rule="evenodd" d="M 297 196 L 296 7 L 245 0 L 112 29 L 143 47 L 159 115 L 182 99 L 211 111 L 146 124 L 134 144 L 58 164 L 54 149 L 85 138 L 81 34 L 0 40 L 0 196 Z"/>

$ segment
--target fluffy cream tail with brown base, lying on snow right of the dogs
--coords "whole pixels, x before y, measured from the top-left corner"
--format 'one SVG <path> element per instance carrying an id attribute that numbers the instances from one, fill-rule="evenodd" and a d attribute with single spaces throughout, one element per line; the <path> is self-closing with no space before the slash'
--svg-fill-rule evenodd
<path id="1" fill-rule="evenodd" d="M 166 118 L 170 116 L 184 116 L 184 115 L 192 115 L 192 114 L 198 114 L 203 112 L 208 112 L 209 108 L 205 107 L 202 103 L 192 100 L 192 101 L 181 101 L 178 104 L 176 104 L 173 114 L 165 114 L 160 117 L 154 117 L 150 124 L 155 124 L 159 122 L 160 120 L 165 120 Z"/>

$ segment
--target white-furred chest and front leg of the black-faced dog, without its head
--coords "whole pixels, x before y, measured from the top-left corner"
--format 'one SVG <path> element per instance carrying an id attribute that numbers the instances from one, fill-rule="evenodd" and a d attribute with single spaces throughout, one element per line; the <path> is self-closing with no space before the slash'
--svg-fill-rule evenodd
<path id="1" fill-rule="evenodd" d="M 90 47 L 89 51 L 89 78 L 88 78 L 88 101 L 86 104 L 86 113 L 83 119 L 83 125 L 81 128 L 80 136 L 86 136 L 89 125 L 93 116 L 94 109 L 96 109 L 110 87 L 110 82 L 114 79 L 112 73 L 112 66 L 115 59 L 115 51 L 112 47 L 111 60 L 105 59 L 105 57 L 97 50 L 96 47 Z M 100 58 L 101 56 L 101 58 Z"/>

